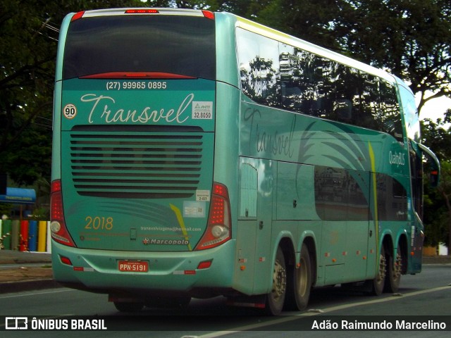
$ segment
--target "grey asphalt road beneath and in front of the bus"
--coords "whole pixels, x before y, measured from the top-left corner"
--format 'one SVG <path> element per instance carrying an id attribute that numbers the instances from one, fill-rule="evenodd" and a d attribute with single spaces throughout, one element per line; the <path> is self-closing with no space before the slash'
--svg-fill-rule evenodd
<path id="1" fill-rule="evenodd" d="M 419 275 L 402 276 L 399 294 L 380 297 L 365 296 L 339 287 L 316 289 L 311 296 L 309 309 L 302 313 L 283 313 L 271 318 L 249 308 L 226 306 L 224 299 L 192 300 L 187 310 L 145 308 L 140 315 L 120 315 L 107 297 L 72 289 L 46 289 L 35 292 L 19 292 L 0 295 L 0 315 L 37 316 L 37 318 L 60 319 L 68 316 L 104 318 L 109 326 L 108 337 L 450 337 L 447 331 L 403 330 L 401 332 L 356 332 L 311 330 L 319 323 L 334 323 L 343 318 L 350 321 L 364 320 L 444 320 L 451 330 L 451 265 L 424 265 Z M 40 316 L 40 317 L 38 317 Z M 101 316 L 101 317 L 98 317 Z M 343 317 L 347 316 L 347 317 Z M 393 317 L 396 316 L 396 317 Z M 434 317 L 429 317 L 434 316 Z M 443 316 L 443 317 L 438 317 Z M 4 319 L 1 319 L 2 321 Z M 330 320 L 329 322 L 327 322 Z M 441 322 L 440 322 L 441 323 Z M 5 325 L 0 322 L 0 331 Z M 115 330 L 115 331 L 113 331 Z M 117 330 L 117 331 L 116 331 Z M 302 332 L 302 331 L 308 332 Z M 102 331 L 4 331 L 1 337 L 106 337 Z"/>

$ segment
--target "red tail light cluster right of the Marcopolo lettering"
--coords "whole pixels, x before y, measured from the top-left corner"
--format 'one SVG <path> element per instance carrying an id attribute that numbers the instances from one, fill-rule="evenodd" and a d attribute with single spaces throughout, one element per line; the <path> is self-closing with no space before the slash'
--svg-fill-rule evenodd
<path id="1" fill-rule="evenodd" d="M 227 187 L 223 184 L 214 183 L 206 232 L 197 244 L 196 250 L 211 249 L 232 238 L 230 220 L 230 201 Z"/>

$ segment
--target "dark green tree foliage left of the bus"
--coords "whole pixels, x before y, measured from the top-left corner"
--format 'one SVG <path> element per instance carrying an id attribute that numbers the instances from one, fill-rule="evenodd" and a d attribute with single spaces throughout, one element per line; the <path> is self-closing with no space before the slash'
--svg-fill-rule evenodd
<path id="1" fill-rule="evenodd" d="M 0 173 L 18 184 L 50 178 L 56 44 L 64 15 L 139 4 L 0 0 Z"/>

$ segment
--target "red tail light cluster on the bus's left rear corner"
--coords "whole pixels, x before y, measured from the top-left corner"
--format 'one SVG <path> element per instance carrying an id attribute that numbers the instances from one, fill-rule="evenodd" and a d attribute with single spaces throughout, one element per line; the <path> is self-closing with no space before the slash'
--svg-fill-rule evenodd
<path id="1" fill-rule="evenodd" d="M 61 180 L 51 182 L 51 215 L 50 232 L 51 238 L 60 244 L 75 246 L 64 221 L 63 194 L 61 192 Z"/>

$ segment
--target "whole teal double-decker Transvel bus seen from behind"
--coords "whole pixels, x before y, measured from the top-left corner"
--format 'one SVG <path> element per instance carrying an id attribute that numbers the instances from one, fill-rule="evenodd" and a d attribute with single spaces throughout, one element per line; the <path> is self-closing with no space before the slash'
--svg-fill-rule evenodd
<path id="1" fill-rule="evenodd" d="M 397 77 L 167 8 L 70 13 L 56 64 L 58 282 L 119 311 L 223 295 L 278 314 L 420 272 L 424 155 L 439 166 Z"/>

